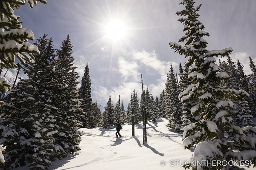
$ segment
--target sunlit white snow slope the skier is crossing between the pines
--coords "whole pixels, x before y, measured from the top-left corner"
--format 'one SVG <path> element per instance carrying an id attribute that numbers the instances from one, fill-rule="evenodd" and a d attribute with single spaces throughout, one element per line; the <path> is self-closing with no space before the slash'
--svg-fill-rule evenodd
<path id="1" fill-rule="evenodd" d="M 53 161 L 48 170 L 184 170 L 182 166 L 176 165 L 175 160 L 183 164 L 183 160 L 190 160 L 193 150 L 184 150 L 180 137 L 182 133 L 169 130 L 167 123 L 167 119 L 149 122 L 148 143 L 144 145 L 141 125 L 135 126 L 135 137 L 131 136 L 131 125 L 123 125 L 120 131 L 123 138 L 117 139 L 116 130 L 82 128 L 81 150 L 74 156 Z M 170 161 L 175 162 L 175 165 L 171 166 Z M 253 167 L 248 170 L 251 169 Z M 29 168 L 19 167 L 15 170 Z"/>

